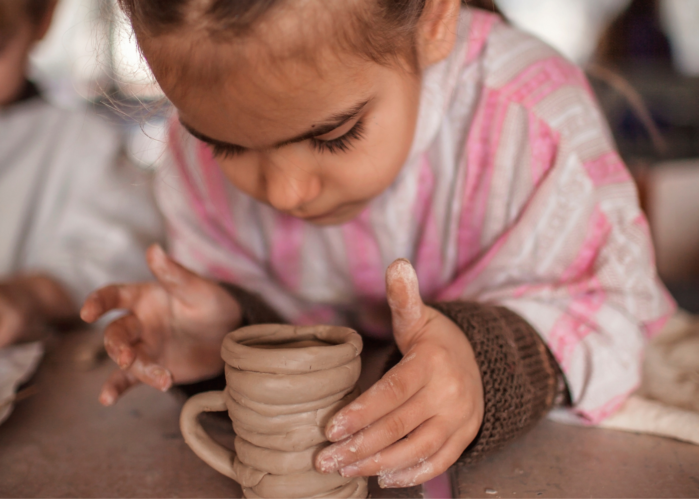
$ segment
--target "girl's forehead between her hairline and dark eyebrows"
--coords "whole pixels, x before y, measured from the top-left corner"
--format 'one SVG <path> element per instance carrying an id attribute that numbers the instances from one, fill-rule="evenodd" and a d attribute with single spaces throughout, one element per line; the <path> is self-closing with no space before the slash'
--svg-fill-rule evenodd
<path id="1" fill-rule="evenodd" d="M 182 46 L 187 57 L 178 68 L 176 43 L 153 40 L 144 52 L 180 118 L 210 138 L 244 147 L 278 143 L 369 100 L 387 69 L 322 46 L 312 58 L 278 57 L 254 41 L 244 50 L 210 41 Z M 171 62 L 159 61 L 168 53 Z"/>

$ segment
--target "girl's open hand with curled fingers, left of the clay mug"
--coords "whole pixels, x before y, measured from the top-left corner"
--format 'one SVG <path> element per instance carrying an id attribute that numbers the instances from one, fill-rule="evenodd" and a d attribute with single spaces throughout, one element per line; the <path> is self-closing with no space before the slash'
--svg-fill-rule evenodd
<path id="1" fill-rule="evenodd" d="M 158 245 L 148 248 L 146 259 L 157 281 L 103 287 L 80 310 L 86 322 L 110 310 L 129 311 L 104 331 L 107 353 L 121 369 L 103 384 L 103 405 L 140 382 L 166 391 L 173 383 L 219 374 L 223 338 L 240 326 L 240 305 L 221 286 L 182 267 Z"/>

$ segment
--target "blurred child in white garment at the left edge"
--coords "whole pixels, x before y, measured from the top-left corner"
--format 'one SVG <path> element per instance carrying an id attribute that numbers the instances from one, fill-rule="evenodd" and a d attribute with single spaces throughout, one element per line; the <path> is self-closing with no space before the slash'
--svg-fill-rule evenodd
<path id="1" fill-rule="evenodd" d="M 0 0 L 0 347 L 77 319 L 96 287 L 150 277 L 143 251 L 161 233 L 146 180 L 120 161 L 119 134 L 50 105 L 27 80 L 54 6 Z"/>

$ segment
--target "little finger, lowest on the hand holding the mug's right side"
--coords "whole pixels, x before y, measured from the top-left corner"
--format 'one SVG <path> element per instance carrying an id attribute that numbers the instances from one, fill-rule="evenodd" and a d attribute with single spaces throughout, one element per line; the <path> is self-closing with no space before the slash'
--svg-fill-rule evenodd
<path id="1" fill-rule="evenodd" d="M 429 458 L 402 470 L 390 470 L 379 475 L 382 489 L 393 487 L 412 487 L 424 484 L 430 479 L 442 475 L 449 466 L 456 463 L 466 447 L 461 443 L 461 435 L 452 435 L 442 447 Z"/>

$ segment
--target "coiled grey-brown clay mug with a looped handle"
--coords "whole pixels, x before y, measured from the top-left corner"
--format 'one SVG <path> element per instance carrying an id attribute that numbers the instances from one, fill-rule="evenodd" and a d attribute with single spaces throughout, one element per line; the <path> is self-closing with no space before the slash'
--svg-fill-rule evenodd
<path id="1" fill-rule="evenodd" d="M 361 337 L 339 326 L 259 324 L 229 333 L 221 347 L 226 389 L 182 407 L 185 442 L 243 486 L 246 498 L 366 498 L 366 478 L 323 475 L 313 459 L 327 421 L 359 395 Z M 228 410 L 235 451 L 214 442 L 197 416 Z"/>

